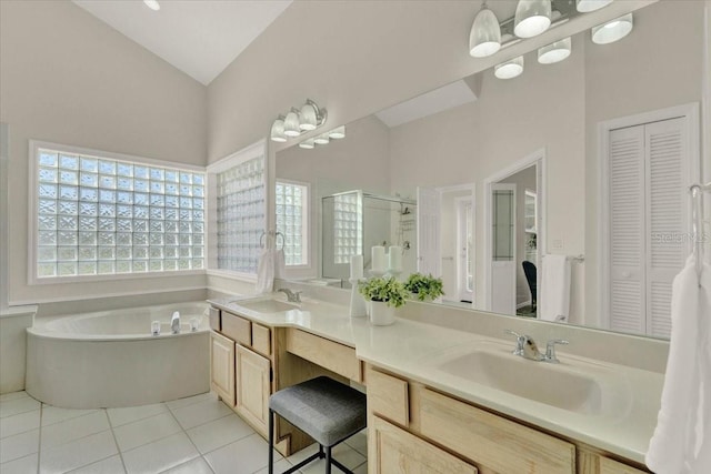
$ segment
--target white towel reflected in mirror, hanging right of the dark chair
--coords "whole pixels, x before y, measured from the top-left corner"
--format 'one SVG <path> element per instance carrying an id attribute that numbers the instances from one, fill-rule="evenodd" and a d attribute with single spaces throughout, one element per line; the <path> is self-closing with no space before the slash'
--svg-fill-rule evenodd
<path id="1" fill-rule="evenodd" d="M 570 262 L 565 255 L 543 256 L 538 317 L 568 321 L 570 311 Z"/>

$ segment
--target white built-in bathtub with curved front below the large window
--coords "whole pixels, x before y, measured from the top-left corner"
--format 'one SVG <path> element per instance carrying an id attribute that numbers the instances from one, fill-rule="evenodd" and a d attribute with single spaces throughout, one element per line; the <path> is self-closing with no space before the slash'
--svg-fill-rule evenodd
<path id="1" fill-rule="evenodd" d="M 37 319 L 27 330 L 26 390 L 67 409 L 136 406 L 210 390 L 206 302 Z M 181 332 L 170 319 L 180 312 Z M 190 319 L 198 317 L 197 331 Z M 161 322 L 160 335 L 151 322 Z"/>

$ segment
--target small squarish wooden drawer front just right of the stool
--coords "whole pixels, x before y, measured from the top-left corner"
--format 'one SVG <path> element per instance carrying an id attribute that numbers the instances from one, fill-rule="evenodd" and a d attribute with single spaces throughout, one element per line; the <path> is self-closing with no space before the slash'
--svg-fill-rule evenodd
<path id="1" fill-rule="evenodd" d="M 368 367 L 368 407 L 402 426 L 410 422 L 408 382 Z"/>

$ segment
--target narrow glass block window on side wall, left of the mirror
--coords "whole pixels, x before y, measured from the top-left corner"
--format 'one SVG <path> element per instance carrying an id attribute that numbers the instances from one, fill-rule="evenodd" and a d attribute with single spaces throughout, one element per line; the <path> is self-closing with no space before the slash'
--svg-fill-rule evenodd
<path id="1" fill-rule="evenodd" d="M 217 174 L 218 268 L 257 273 L 264 231 L 264 159 L 244 161 Z"/>

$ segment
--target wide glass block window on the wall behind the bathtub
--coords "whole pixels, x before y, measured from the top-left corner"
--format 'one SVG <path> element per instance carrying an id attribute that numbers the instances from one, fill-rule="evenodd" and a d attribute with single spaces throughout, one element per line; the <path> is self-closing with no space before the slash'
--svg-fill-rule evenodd
<path id="1" fill-rule="evenodd" d="M 38 279 L 203 269 L 204 179 L 37 148 Z"/>

